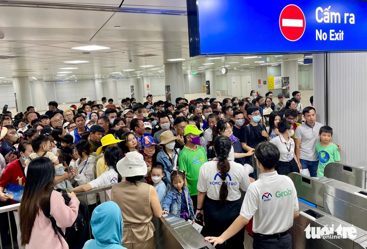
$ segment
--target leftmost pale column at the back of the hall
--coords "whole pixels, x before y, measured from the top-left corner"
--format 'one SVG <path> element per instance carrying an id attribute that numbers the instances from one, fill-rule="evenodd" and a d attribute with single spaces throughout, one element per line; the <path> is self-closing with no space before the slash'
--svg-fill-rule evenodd
<path id="1" fill-rule="evenodd" d="M 16 95 L 17 112 L 25 112 L 28 106 L 32 106 L 30 95 L 29 77 L 13 77 L 14 93 Z"/>

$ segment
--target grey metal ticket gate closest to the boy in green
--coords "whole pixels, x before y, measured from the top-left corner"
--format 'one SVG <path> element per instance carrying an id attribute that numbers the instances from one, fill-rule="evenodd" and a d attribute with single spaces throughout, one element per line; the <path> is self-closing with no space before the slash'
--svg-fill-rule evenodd
<path id="1" fill-rule="evenodd" d="M 324 176 L 359 188 L 366 189 L 367 186 L 367 167 L 329 163 L 324 169 Z"/>

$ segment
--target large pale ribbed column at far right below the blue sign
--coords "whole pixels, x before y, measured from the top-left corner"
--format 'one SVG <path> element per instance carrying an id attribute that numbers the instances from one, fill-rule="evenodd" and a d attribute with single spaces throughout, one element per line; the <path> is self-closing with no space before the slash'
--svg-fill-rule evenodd
<path id="1" fill-rule="evenodd" d="M 313 54 L 316 121 L 333 128 L 331 142 L 342 146 L 341 162 L 353 166 L 367 164 L 367 116 L 358 104 L 366 98 L 366 68 L 367 53 Z"/>

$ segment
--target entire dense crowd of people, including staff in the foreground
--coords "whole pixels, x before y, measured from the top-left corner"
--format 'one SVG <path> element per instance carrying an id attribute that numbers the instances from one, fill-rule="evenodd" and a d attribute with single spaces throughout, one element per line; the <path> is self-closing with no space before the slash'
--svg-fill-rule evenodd
<path id="1" fill-rule="evenodd" d="M 19 248 L 68 248 L 44 209 L 65 232 L 82 202 L 74 192 L 110 184 L 99 198 L 84 200 L 94 236 L 86 249 L 155 248 L 152 217 L 167 213 L 204 225 L 206 241 L 217 248 L 243 248 L 244 225 L 254 217 L 254 248 L 289 248 L 298 200 L 286 175 L 307 169 L 323 177 L 341 149 L 330 142 L 333 129 L 316 122 L 313 97 L 302 107 L 301 93 L 292 95 L 284 103 L 279 94 L 274 103 L 272 92 L 252 90 L 243 99 L 178 97 L 174 104 L 148 95 L 144 103 L 127 97 L 118 106 L 106 97 L 99 104 L 81 98 L 65 111 L 51 101 L 43 115 L 33 106 L 14 117 L 8 111 L 0 200 L 18 203 L 8 188 L 21 186 L 14 211 Z M 52 188 L 72 190 L 68 204 Z M 269 190 L 292 195 L 264 202 Z M 265 220 L 275 213 L 279 218 Z"/>

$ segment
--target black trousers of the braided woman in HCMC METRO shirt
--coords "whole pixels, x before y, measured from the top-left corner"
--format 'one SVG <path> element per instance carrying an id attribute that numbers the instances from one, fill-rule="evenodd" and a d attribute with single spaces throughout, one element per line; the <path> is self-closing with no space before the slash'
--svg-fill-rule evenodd
<path id="1" fill-rule="evenodd" d="M 206 198 L 204 210 L 204 222 L 206 235 L 220 236 L 236 220 L 240 214 L 242 199 L 226 201 L 224 205 L 219 204 L 219 200 Z M 222 245 L 216 245 L 216 249 L 244 249 L 245 228 L 243 227 L 232 238 Z"/>

